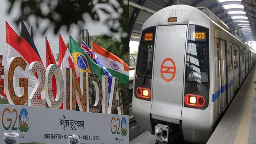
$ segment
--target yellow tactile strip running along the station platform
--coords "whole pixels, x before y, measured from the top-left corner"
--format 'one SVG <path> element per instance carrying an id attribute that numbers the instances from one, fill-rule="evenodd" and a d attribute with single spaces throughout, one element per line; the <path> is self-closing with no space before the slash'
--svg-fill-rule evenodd
<path id="1" fill-rule="evenodd" d="M 253 74 L 254 76 L 255 74 Z M 249 76 L 249 75 L 248 75 Z M 252 78 L 254 79 L 254 78 Z M 248 137 L 249 137 L 249 131 L 250 131 L 250 125 L 251 125 L 251 119 L 252 119 L 252 110 L 253 110 L 253 100 L 255 96 L 255 84 L 253 83 L 251 79 L 249 86 L 249 94 L 245 95 L 246 103 L 244 106 L 244 112 L 242 114 L 242 118 L 239 124 L 239 128 L 237 131 L 236 139 L 234 141 L 234 144 L 247 144 L 248 143 Z"/>

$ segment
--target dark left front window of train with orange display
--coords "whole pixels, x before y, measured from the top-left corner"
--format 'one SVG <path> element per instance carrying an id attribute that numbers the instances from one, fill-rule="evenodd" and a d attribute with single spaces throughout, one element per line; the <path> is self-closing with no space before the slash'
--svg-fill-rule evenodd
<path id="1" fill-rule="evenodd" d="M 136 66 L 137 77 L 151 78 L 152 76 L 155 30 L 156 26 L 153 26 L 146 28 L 142 31 L 142 38 L 140 40 L 139 52 L 137 57 L 138 61 Z"/>

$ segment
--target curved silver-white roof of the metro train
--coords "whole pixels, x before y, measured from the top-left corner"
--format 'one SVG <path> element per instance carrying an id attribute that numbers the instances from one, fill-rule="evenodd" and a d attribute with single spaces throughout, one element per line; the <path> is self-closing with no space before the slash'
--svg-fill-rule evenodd
<path id="1" fill-rule="evenodd" d="M 177 22 L 168 22 L 169 17 L 177 17 Z M 170 24 L 189 24 L 189 23 L 198 24 L 200 26 L 210 28 L 210 26 L 213 24 L 215 27 L 218 28 L 219 31 L 222 32 L 222 35 L 229 36 L 230 38 L 235 40 L 236 41 L 235 44 L 237 45 L 242 44 L 244 47 L 247 47 L 251 51 L 255 52 L 251 47 L 246 45 L 236 36 L 232 35 L 229 31 L 227 31 L 226 28 L 223 28 L 223 26 L 220 26 L 219 23 L 222 23 L 222 22 L 215 22 L 215 21 L 216 20 L 211 19 L 204 12 L 202 12 L 202 10 L 199 10 L 195 7 L 191 7 L 189 5 L 172 5 L 157 11 L 156 13 L 154 13 L 154 15 L 149 17 L 146 20 L 146 22 L 143 24 L 142 30 L 151 26 L 170 25 Z"/>

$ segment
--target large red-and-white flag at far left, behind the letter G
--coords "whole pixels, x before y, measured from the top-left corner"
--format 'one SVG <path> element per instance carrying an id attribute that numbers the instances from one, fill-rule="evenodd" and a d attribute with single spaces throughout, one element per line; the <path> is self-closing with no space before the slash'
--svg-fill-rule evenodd
<path id="1" fill-rule="evenodd" d="M 6 55 L 5 55 L 5 65 L 12 57 L 22 57 L 27 62 L 27 67 L 24 73 L 20 71 L 15 71 L 14 76 L 20 78 L 29 78 L 29 86 L 35 87 L 37 83 L 37 78 L 35 76 L 31 76 L 29 71 L 29 64 L 31 62 L 39 61 L 42 63 L 40 57 L 37 52 L 31 47 L 31 45 L 23 38 L 19 38 L 19 36 L 15 33 L 15 31 L 10 27 L 10 25 L 6 22 Z"/>

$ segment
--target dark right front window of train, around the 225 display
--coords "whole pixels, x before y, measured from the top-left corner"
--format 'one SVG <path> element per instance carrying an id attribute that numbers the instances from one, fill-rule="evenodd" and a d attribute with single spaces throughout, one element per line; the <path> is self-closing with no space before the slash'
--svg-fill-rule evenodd
<path id="1" fill-rule="evenodd" d="M 206 32 L 206 41 L 198 41 L 193 38 L 196 31 Z M 208 28 L 196 25 L 189 25 L 187 61 L 186 61 L 186 81 L 197 83 L 207 83 L 209 77 L 209 48 L 208 48 Z"/>

